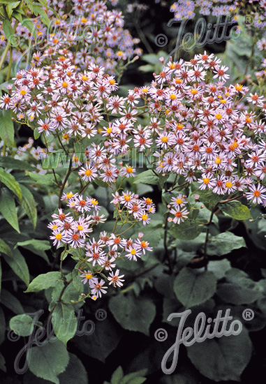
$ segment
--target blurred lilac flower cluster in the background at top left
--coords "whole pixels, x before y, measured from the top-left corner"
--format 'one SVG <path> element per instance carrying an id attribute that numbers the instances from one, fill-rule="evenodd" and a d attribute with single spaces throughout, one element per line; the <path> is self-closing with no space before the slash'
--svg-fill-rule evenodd
<path id="1" fill-rule="evenodd" d="M 50 18 L 51 25 L 45 26 L 41 17 L 40 20 L 32 19 L 35 45 L 42 47 L 41 51 L 32 55 L 32 66 L 50 64 L 64 55 L 82 70 L 96 64 L 103 66 L 107 73 L 114 74 L 115 71 L 121 71 L 125 61 L 142 53 L 140 49 L 134 48 L 139 39 L 133 39 L 129 31 L 124 29 L 121 12 L 108 10 L 106 0 L 49 0 L 47 8 L 43 7 L 43 10 Z M 25 23 L 17 25 L 15 35 L 20 38 L 20 43 L 34 38 Z M 6 42 L 2 32 L 0 47 L 4 47 Z M 20 61 L 23 57 L 19 50 L 15 50 L 14 59 Z"/>

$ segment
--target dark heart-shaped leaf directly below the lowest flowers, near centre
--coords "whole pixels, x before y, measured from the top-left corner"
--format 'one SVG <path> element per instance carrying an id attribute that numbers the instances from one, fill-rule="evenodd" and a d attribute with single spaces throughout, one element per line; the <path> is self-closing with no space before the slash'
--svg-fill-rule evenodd
<path id="1" fill-rule="evenodd" d="M 152 300 L 136 298 L 133 294 L 117 295 L 110 298 L 109 308 L 115 320 L 125 329 L 149 335 L 156 307 Z"/>

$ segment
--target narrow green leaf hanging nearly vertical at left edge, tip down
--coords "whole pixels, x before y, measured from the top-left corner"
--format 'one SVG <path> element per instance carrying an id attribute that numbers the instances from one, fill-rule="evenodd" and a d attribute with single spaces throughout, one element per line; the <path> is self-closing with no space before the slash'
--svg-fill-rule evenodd
<path id="1" fill-rule="evenodd" d="M 8 189 L 2 189 L 0 194 L 0 212 L 17 232 L 20 233 L 18 225 L 17 212 L 15 209 L 15 198 Z"/>

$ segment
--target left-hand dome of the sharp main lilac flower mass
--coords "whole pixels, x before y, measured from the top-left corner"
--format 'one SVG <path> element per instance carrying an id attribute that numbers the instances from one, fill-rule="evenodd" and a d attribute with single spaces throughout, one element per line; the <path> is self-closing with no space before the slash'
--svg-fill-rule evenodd
<path id="1" fill-rule="evenodd" d="M 114 77 L 94 64 L 89 71 L 77 73 L 66 57 L 55 63 L 49 70 L 31 68 L 17 73 L 12 94 L 2 96 L 0 108 L 13 110 L 17 119 L 29 125 L 37 121 L 39 133 L 59 131 L 66 133 L 65 139 L 91 138 L 103 119 L 103 99 L 117 89 Z"/>

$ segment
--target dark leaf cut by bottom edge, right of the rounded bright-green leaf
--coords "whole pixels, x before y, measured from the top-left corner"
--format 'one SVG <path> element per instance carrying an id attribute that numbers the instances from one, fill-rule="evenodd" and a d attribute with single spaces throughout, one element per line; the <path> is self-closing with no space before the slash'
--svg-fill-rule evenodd
<path id="1" fill-rule="evenodd" d="M 87 371 L 84 365 L 73 353 L 69 353 L 69 363 L 66 371 L 58 376 L 60 383 L 88 384 Z"/>

